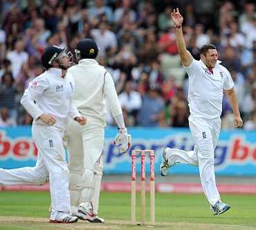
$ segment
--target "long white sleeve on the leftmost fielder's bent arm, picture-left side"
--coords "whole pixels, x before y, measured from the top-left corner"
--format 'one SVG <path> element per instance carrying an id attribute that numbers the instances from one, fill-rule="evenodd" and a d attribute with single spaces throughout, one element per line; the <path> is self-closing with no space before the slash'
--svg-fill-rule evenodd
<path id="1" fill-rule="evenodd" d="M 21 104 L 26 108 L 26 111 L 37 119 L 43 114 L 43 111 L 35 104 L 37 99 L 44 93 L 49 87 L 49 82 L 46 77 L 36 77 L 32 82 L 28 84 L 28 88 L 25 90 L 24 95 L 21 97 Z"/>

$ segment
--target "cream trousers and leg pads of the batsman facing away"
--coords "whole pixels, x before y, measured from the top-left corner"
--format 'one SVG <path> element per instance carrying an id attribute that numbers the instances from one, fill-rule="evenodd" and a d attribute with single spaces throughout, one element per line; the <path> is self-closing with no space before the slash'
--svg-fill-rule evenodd
<path id="1" fill-rule="evenodd" d="M 90 124 L 90 119 L 85 126 L 80 126 L 68 119 L 67 137 L 68 167 L 71 172 L 71 209 L 86 202 L 88 198 L 93 204 L 93 213 L 98 215 L 103 171 L 104 126 L 102 123 Z"/>

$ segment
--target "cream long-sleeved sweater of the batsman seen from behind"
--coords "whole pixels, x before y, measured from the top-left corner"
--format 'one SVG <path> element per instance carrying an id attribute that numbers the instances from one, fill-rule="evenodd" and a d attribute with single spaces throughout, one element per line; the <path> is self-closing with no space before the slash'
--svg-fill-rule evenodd
<path id="1" fill-rule="evenodd" d="M 73 76 L 75 91 L 73 102 L 80 113 L 86 115 L 88 123 L 99 122 L 105 125 L 107 99 L 113 117 L 122 115 L 115 84 L 107 70 L 95 59 L 82 59 L 76 66 L 68 69 Z"/>

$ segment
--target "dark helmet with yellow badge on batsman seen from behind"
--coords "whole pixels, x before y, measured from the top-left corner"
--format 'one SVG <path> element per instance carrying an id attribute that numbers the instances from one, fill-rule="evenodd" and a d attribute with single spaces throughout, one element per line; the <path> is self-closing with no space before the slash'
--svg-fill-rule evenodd
<path id="1" fill-rule="evenodd" d="M 75 49 L 75 56 L 79 59 L 95 59 L 98 55 L 99 48 L 93 39 L 82 39 L 78 41 Z"/>

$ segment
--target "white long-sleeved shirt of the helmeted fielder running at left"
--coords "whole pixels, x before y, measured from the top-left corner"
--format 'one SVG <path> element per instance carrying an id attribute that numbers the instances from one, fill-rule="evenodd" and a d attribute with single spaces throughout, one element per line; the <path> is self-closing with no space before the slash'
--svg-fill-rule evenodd
<path id="1" fill-rule="evenodd" d="M 54 115 L 56 123 L 58 119 L 66 120 L 68 115 L 73 118 L 80 116 L 72 102 L 74 86 L 68 73 L 62 77 L 60 68 L 49 68 L 29 83 L 21 104 L 33 117 L 34 123 L 42 124 L 37 118 L 43 113 Z"/>

